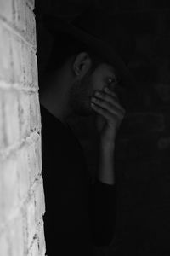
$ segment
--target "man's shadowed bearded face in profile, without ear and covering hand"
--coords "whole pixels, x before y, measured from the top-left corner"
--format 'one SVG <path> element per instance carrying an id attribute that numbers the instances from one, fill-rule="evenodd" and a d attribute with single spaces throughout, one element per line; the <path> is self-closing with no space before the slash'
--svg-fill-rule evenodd
<path id="1" fill-rule="evenodd" d="M 77 81 L 71 88 L 70 104 L 75 113 L 90 115 L 94 110 L 90 107 L 90 97 L 96 90 L 103 90 L 108 86 L 111 90 L 116 86 L 116 71 L 108 64 L 100 64 L 93 73 Z"/>

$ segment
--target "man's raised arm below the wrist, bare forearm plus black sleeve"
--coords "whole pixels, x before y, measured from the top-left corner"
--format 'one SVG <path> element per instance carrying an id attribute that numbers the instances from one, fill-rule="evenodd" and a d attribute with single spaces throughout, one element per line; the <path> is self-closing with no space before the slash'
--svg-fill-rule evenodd
<path id="1" fill-rule="evenodd" d="M 99 182 L 94 183 L 92 193 L 94 245 L 109 246 L 116 224 L 116 181 L 114 172 L 114 148 L 100 148 Z"/>

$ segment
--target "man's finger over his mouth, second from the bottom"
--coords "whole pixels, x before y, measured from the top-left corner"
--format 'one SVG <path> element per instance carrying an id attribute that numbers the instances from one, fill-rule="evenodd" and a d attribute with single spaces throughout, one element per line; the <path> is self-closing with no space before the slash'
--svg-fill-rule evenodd
<path id="1" fill-rule="evenodd" d="M 101 108 L 105 108 L 107 111 L 114 113 L 116 115 L 124 115 L 124 108 L 120 107 L 120 105 L 113 104 L 112 102 L 106 102 L 103 98 L 92 97 L 91 102 L 98 105 Z"/>

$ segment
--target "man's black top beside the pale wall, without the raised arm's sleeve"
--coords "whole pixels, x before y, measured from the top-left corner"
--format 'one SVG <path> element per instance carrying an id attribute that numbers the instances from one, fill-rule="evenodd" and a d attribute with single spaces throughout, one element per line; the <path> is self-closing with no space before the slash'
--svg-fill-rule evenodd
<path id="1" fill-rule="evenodd" d="M 88 180 L 82 151 L 70 131 L 42 109 L 43 216 L 48 256 L 91 256 Z"/>

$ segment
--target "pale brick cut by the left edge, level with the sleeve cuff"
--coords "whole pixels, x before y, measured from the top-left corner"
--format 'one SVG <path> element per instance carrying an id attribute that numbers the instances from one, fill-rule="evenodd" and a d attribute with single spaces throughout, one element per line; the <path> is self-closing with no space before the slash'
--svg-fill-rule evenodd
<path id="1" fill-rule="evenodd" d="M 19 204 L 15 156 L 0 162 L 0 224 L 4 224 Z"/>

